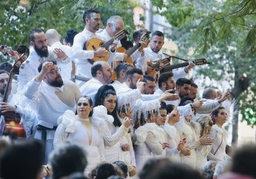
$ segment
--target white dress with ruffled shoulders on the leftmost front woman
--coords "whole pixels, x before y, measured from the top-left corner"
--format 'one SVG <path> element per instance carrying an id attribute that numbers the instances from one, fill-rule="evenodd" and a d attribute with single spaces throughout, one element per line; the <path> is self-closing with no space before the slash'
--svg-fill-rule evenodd
<path id="1" fill-rule="evenodd" d="M 104 111 L 94 108 L 94 115 L 90 119 L 80 119 L 73 111 L 66 110 L 64 115 L 58 119 L 58 127 L 55 132 L 54 145 L 58 145 L 64 141 L 71 141 L 80 144 L 87 151 L 88 164 L 85 174 L 89 174 L 99 163 L 105 161 L 104 141 L 99 128 L 100 119 L 97 114 Z M 92 141 L 90 143 L 89 136 L 82 120 L 91 120 L 92 123 Z"/>

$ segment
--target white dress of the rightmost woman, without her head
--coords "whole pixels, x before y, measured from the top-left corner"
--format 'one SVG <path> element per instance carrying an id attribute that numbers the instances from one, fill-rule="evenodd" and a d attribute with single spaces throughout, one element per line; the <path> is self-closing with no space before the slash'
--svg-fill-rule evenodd
<path id="1" fill-rule="evenodd" d="M 214 138 L 215 142 L 212 145 L 211 152 L 208 155 L 208 159 L 215 161 L 228 161 L 229 155 L 226 154 L 228 132 L 224 128 L 218 127 L 214 124 L 209 137 Z"/>

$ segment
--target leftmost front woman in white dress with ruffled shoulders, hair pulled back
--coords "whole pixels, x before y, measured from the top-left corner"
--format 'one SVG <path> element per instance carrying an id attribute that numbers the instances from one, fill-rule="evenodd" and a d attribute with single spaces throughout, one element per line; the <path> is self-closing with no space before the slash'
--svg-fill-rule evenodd
<path id="1" fill-rule="evenodd" d="M 105 161 L 104 141 L 99 131 L 99 120 L 93 116 L 92 99 L 81 96 L 77 102 L 75 115 L 73 111 L 66 110 L 58 118 L 58 127 L 55 133 L 55 146 L 64 141 L 79 143 L 87 151 L 88 164 L 85 173 L 88 174 L 97 164 Z"/>

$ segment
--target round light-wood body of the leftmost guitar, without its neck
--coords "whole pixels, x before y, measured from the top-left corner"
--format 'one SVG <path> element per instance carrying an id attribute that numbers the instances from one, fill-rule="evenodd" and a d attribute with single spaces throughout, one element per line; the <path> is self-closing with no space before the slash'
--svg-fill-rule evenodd
<path id="1" fill-rule="evenodd" d="M 97 48 L 101 47 L 104 45 L 105 41 L 102 41 L 99 38 L 91 38 L 89 41 L 86 43 L 86 50 L 97 50 Z M 108 50 L 108 48 L 106 48 Z M 109 57 L 109 51 L 107 52 L 105 57 L 94 57 L 93 60 L 94 62 L 97 61 L 108 61 Z"/>

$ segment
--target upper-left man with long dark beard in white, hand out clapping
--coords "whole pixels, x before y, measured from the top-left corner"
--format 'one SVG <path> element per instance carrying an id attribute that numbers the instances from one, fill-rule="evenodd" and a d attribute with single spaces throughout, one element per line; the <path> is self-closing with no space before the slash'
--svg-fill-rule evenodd
<path id="1" fill-rule="evenodd" d="M 65 63 L 68 60 L 67 55 L 59 48 L 55 48 L 54 51 L 48 50 L 48 41 L 42 29 L 33 29 L 29 35 L 29 40 L 31 45 L 29 57 L 20 67 L 20 73 L 17 77 L 18 92 L 21 92 L 27 83 L 38 74 L 39 64 L 49 60 L 55 60 L 58 63 Z"/>

